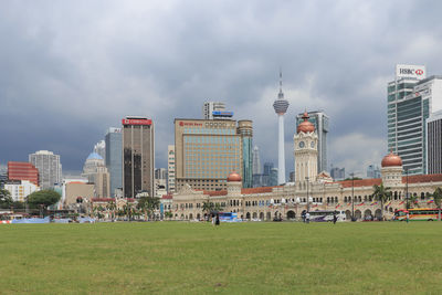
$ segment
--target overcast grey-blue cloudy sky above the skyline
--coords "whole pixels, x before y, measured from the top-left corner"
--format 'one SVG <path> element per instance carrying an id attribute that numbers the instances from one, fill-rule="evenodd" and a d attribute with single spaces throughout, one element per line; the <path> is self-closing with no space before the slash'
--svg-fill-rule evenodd
<path id="1" fill-rule="evenodd" d="M 441 1 L 1 1 L 0 164 L 40 149 L 81 170 L 126 115 L 155 120 L 166 167 L 173 118 L 204 101 L 252 119 L 277 164 L 278 69 L 287 173 L 295 115 L 330 117 L 328 166 L 365 172 L 387 152 L 396 63 L 442 74 Z M 434 109 L 433 109 L 434 110 Z"/>

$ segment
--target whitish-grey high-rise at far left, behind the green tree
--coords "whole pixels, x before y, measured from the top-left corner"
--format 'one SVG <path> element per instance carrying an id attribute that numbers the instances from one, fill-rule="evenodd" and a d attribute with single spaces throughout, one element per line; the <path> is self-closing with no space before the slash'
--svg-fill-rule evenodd
<path id="1" fill-rule="evenodd" d="M 53 188 L 62 181 L 62 164 L 60 156 L 49 150 L 39 150 L 29 155 L 29 162 L 39 169 L 39 185 L 41 189 Z"/>

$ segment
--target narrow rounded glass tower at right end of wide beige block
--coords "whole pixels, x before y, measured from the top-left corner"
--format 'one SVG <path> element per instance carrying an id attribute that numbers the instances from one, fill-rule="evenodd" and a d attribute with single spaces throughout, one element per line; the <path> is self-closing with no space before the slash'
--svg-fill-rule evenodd
<path id="1" fill-rule="evenodd" d="M 238 134 L 241 136 L 241 143 L 242 143 L 242 187 L 252 188 L 253 187 L 252 122 L 245 119 L 239 120 Z"/>

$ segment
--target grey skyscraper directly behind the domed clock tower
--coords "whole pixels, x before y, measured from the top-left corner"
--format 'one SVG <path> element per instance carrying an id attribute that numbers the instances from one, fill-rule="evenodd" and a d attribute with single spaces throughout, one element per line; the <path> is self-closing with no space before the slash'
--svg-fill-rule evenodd
<path id="1" fill-rule="evenodd" d="M 296 128 L 304 122 L 304 114 L 298 114 L 296 116 Z M 320 110 L 308 112 L 308 120 L 315 126 L 318 136 L 318 172 L 328 171 L 327 169 L 327 134 L 328 134 L 328 116 Z"/>

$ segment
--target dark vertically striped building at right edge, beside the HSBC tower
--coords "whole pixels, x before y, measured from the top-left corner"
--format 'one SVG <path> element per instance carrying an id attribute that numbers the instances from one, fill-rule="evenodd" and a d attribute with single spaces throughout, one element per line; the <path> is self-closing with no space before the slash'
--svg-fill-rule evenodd
<path id="1" fill-rule="evenodd" d="M 427 119 L 427 171 L 442 173 L 442 110 Z"/>

